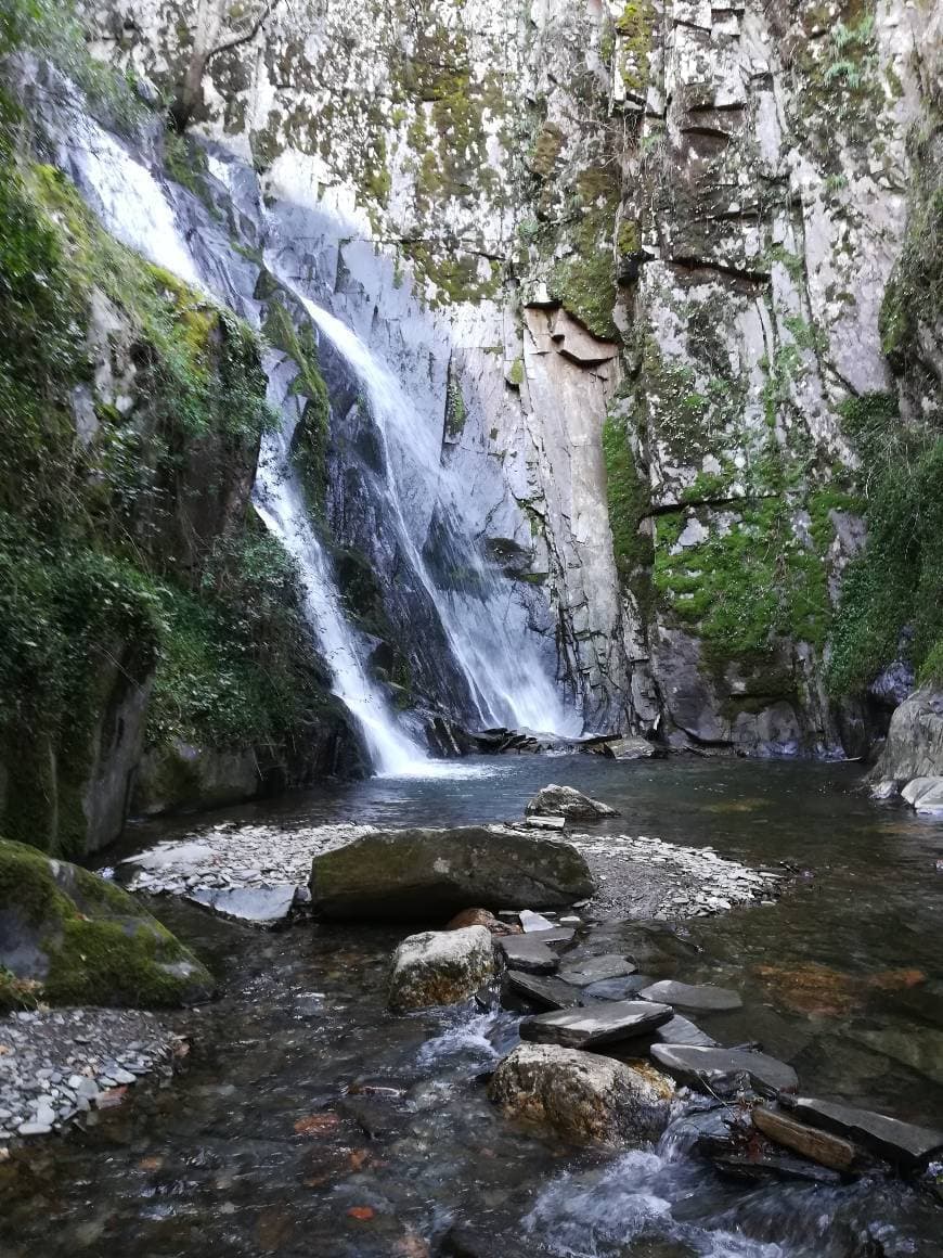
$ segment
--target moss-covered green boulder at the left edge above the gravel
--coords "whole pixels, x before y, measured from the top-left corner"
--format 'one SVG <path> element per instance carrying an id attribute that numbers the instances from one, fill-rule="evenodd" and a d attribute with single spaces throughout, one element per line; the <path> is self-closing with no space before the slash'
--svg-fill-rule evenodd
<path id="1" fill-rule="evenodd" d="M 29 993 L 59 1005 L 181 1005 L 212 977 L 127 892 L 0 839 L 0 1011 Z"/>

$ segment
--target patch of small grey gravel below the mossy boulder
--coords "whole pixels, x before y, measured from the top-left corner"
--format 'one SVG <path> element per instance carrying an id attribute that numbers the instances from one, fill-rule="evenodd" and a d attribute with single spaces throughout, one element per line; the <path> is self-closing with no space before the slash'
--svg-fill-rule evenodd
<path id="1" fill-rule="evenodd" d="M 0 1018 L 0 1146 L 45 1136 L 123 1099 L 138 1079 L 168 1078 L 186 1044 L 153 1014 L 117 1009 Z"/>

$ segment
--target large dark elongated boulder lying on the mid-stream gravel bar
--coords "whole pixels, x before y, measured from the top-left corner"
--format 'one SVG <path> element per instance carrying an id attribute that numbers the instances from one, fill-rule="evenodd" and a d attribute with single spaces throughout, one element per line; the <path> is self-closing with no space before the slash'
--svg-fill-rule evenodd
<path id="1" fill-rule="evenodd" d="M 314 857 L 316 913 L 333 918 L 444 918 L 468 905 L 558 908 L 595 889 L 586 860 L 557 839 L 505 829 L 377 830 Z"/>

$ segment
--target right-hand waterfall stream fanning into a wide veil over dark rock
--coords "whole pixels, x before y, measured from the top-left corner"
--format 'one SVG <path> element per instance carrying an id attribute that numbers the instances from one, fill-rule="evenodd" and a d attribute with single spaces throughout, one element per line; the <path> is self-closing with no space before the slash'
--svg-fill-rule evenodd
<path id="1" fill-rule="evenodd" d="M 441 434 L 417 419 L 399 380 L 356 332 L 299 292 L 273 258 L 267 255 L 265 264 L 363 386 L 383 448 L 378 489 L 410 567 L 439 613 L 478 720 L 484 726 L 580 735 L 582 722 L 565 708 L 526 625 L 512 630 L 510 584 L 482 559 L 461 509 L 464 487 L 441 464 Z M 448 570 L 460 574 L 448 587 L 434 579 L 424 554 L 433 504 L 436 546 Z"/>

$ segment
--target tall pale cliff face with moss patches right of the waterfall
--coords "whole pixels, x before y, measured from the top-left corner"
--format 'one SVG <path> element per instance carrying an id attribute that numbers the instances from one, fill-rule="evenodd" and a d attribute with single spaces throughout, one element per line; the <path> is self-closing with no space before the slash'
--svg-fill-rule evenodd
<path id="1" fill-rule="evenodd" d="M 826 645 L 861 433 L 938 396 L 938 311 L 895 360 L 885 299 L 938 186 L 934 8 L 228 8 L 89 15 L 99 54 L 251 160 L 287 262 L 441 416 L 588 727 L 860 751 Z"/>

